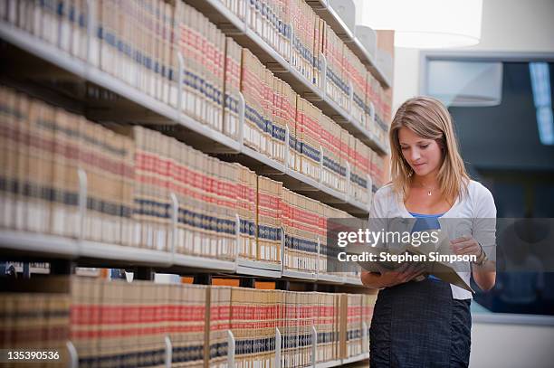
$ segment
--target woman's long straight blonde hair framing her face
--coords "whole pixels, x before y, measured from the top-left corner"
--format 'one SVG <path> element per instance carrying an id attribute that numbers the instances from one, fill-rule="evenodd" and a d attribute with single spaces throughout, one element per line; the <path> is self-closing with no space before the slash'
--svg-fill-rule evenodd
<path id="1" fill-rule="evenodd" d="M 402 193 L 404 199 L 414 179 L 414 171 L 402 155 L 398 131 L 407 127 L 417 136 L 435 139 L 443 151 L 443 162 L 437 179 L 439 189 L 451 205 L 462 193 L 467 193 L 469 175 L 465 171 L 462 156 L 454 135 L 452 117 L 443 103 L 430 97 L 408 99 L 396 110 L 390 126 L 391 176 L 394 191 Z"/>

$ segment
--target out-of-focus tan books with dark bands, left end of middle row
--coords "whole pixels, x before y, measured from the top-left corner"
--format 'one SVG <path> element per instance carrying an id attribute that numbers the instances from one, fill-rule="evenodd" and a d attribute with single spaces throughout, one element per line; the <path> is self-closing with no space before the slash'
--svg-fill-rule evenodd
<path id="1" fill-rule="evenodd" d="M 14 90 L 0 88 L 0 106 L 2 227 L 129 244 L 133 140 Z"/>

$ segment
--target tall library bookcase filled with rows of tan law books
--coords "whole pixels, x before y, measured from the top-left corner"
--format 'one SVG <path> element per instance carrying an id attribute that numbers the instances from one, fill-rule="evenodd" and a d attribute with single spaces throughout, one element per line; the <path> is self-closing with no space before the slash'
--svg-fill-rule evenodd
<path id="1" fill-rule="evenodd" d="M 327 1 L 1 2 L 0 363 L 367 366 L 377 290 L 327 230 L 387 179 L 369 35 Z"/>

